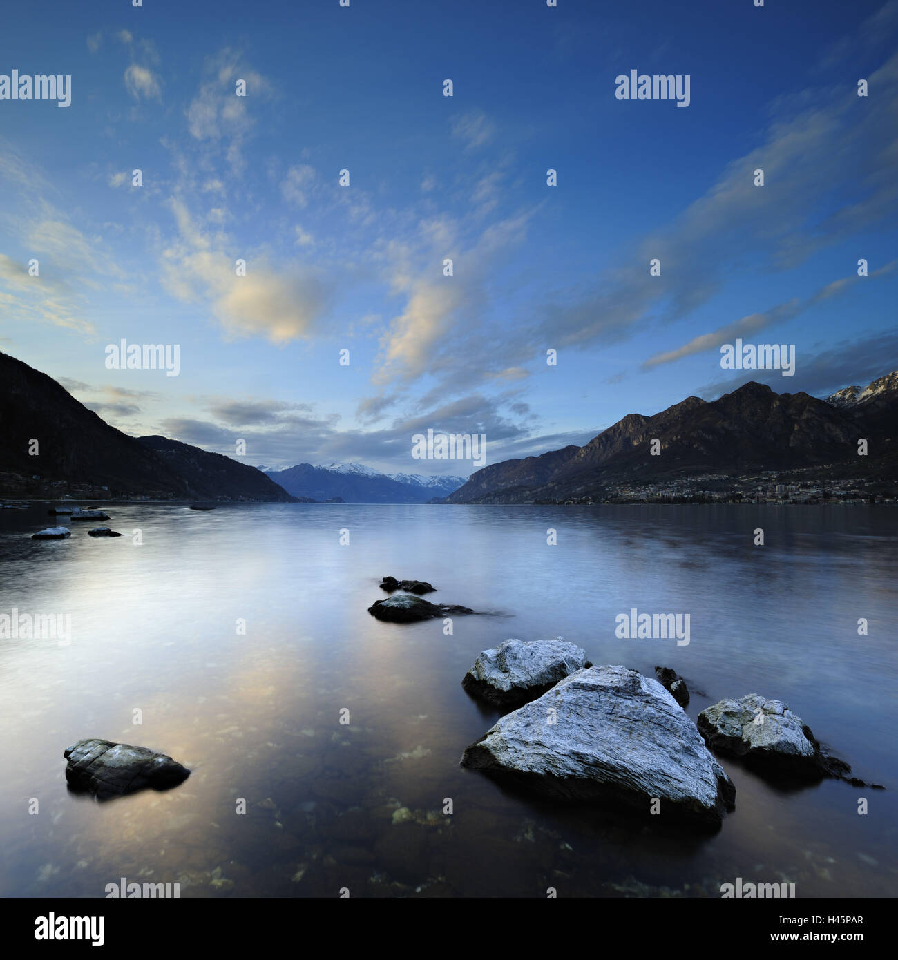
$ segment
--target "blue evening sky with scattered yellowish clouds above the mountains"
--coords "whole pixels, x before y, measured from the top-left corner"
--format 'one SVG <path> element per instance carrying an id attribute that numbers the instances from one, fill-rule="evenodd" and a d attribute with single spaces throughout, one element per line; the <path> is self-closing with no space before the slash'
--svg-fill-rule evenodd
<path id="1" fill-rule="evenodd" d="M 416 433 L 497 463 L 865 386 L 898 368 L 896 39 L 898 0 L 12 5 L 0 75 L 71 103 L 0 100 L 0 350 L 135 436 L 452 475 Z M 721 369 L 736 338 L 794 375 Z M 110 370 L 122 339 L 178 375 Z"/>

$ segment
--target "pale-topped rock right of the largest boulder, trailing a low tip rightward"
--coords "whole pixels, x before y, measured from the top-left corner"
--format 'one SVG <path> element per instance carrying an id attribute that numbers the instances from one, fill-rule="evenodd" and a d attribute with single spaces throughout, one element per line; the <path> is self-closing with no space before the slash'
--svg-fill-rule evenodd
<path id="1" fill-rule="evenodd" d="M 781 700 L 758 693 L 721 700 L 702 710 L 696 725 L 713 750 L 740 756 L 767 773 L 841 775 L 826 772 L 811 728 Z"/>

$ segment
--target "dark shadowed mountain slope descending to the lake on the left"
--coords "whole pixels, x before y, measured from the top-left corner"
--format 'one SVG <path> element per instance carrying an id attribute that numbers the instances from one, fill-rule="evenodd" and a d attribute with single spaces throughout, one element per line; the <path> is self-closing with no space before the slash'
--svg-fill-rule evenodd
<path id="1" fill-rule="evenodd" d="M 35 449 L 36 455 L 29 450 Z M 188 500 L 292 497 L 255 467 L 164 437 L 129 437 L 56 380 L 0 352 L 0 494 Z"/>

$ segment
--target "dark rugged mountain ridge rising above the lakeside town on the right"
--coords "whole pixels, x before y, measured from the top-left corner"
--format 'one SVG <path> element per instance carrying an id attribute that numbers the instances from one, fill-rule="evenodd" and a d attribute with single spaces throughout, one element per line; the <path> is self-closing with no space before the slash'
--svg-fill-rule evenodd
<path id="1" fill-rule="evenodd" d="M 893 479 L 896 414 L 898 373 L 875 380 L 847 405 L 775 394 L 752 381 L 713 402 L 689 396 L 653 417 L 628 414 L 585 446 L 484 467 L 447 502 L 532 503 L 589 497 L 613 484 L 836 464 L 859 475 L 886 470 Z M 866 457 L 857 453 L 861 438 L 869 444 Z M 657 456 L 653 440 L 661 442 Z"/>

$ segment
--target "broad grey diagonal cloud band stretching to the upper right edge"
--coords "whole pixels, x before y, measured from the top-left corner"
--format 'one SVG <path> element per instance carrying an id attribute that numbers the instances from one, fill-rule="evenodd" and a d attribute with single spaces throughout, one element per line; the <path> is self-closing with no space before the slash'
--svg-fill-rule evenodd
<path id="1" fill-rule="evenodd" d="M 869 81 L 875 110 L 843 86 L 781 100 L 761 144 L 667 227 L 632 244 L 595 284 L 546 302 L 541 338 L 563 347 L 613 344 L 689 316 L 751 258 L 762 272 L 789 270 L 888 224 L 898 213 L 898 54 Z M 757 169 L 764 186 L 754 185 Z M 821 217 L 821 198 L 836 212 Z M 653 258 L 661 276 L 649 276 Z"/>

